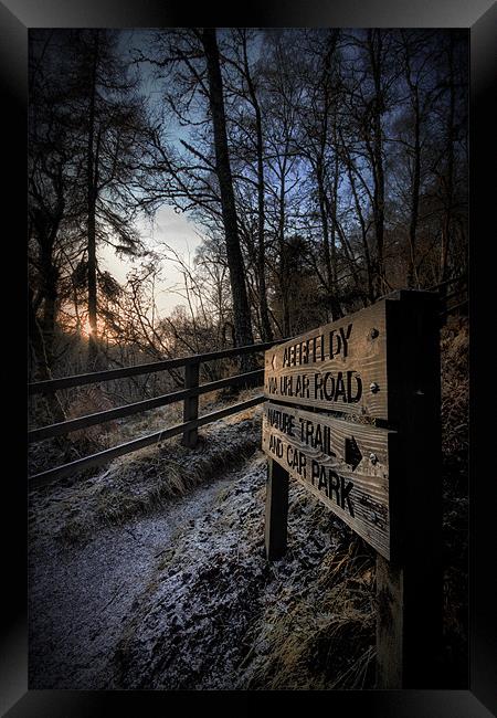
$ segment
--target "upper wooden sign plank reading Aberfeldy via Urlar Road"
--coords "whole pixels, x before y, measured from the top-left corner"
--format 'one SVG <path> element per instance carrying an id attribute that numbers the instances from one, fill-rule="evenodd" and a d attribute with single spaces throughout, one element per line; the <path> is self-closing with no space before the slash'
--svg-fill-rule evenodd
<path id="1" fill-rule="evenodd" d="M 387 420 L 387 379 L 384 300 L 265 353 L 273 401 Z"/>

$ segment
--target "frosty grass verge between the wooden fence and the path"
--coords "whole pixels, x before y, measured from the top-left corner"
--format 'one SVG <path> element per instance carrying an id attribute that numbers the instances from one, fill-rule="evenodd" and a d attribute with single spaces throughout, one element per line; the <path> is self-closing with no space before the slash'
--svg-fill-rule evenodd
<path id="1" fill-rule="evenodd" d="M 163 442 L 115 460 L 96 476 L 39 489 L 31 499 L 31 536 L 44 526 L 53 534 L 55 526 L 56 538 L 82 543 L 98 526 L 123 525 L 159 510 L 165 501 L 243 463 L 257 447 L 260 431 L 260 422 L 252 419 L 242 418 L 232 430 L 218 422 L 199 433 L 194 450 L 182 446 L 180 439 Z"/>

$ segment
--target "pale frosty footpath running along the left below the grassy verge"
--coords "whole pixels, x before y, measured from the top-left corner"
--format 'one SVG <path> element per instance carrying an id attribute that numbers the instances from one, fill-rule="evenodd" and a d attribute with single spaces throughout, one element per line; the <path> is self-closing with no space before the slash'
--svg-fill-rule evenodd
<path id="1" fill-rule="evenodd" d="M 32 688 L 99 688 L 134 605 L 178 535 L 209 516 L 229 472 L 155 516 L 101 530 L 84 547 L 33 547 L 30 566 Z M 186 556 L 188 561 L 189 557 Z"/>

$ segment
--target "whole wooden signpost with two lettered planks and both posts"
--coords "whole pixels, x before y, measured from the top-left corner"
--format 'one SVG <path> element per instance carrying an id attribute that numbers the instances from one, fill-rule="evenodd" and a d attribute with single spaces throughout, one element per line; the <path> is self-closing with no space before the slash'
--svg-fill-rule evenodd
<path id="1" fill-rule="evenodd" d="M 436 685 L 442 626 L 436 297 L 394 293 L 265 353 L 266 555 L 288 479 L 377 551 L 377 687 Z"/>

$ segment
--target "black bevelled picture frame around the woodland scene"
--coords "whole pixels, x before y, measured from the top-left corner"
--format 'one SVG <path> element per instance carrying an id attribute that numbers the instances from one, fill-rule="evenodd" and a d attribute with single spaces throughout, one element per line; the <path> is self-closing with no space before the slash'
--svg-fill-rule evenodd
<path id="1" fill-rule="evenodd" d="M 409 690 L 409 691 L 326 691 L 313 695 L 326 700 L 326 709 L 341 712 L 367 711 L 369 716 L 390 718 L 484 718 L 497 715 L 497 666 L 495 642 L 495 596 L 488 590 L 488 573 L 491 547 L 493 506 L 489 498 L 490 484 L 489 451 L 491 436 L 485 437 L 485 426 L 479 422 L 479 410 L 488 398 L 488 378 L 476 371 L 478 356 L 478 331 L 475 325 L 482 320 L 486 304 L 486 287 L 491 287 L 491 267 L 485 261 L 490 244 L 490 213 L 493 209 L 491 181 L 484 171 L 488 163 L 495 163 L 495 120 L 488 112 L 494 89 L 495 28 L 497 10 L 491 0 L 279 0 L 279 2 L 252 2 L 243 8 L 226 7 L 218 11 L 208 4 L 169 2 L 168 0 L 3 0 L 0 2 L 0 68 L 2 74 L 3 131 L 6 158 L 2 199 L 3 218 L 13 219 L 13 229 L 4 234 L 11 257 L 17 251 L 15 270 L 4 272 L 14 275 L 12 312 L 6 312 L 4 336 L 13 344 L 9 347 L 9 366 L 3 378 L 18 387 L 17 402 L 20 420 L 9 422 L 4 434 L 4 451 L 15 458 L 15 471 L 4 473 L 4 515 L 8 514 L 6 538 L 3 539 L 3 615 L 0 707 L 9 718 L 21 716 L 97 716 L 109 711 L 130 710 L 136 716 L 163 715 L 172 710 L 170 697 L 158 691 L 73 691 L 28 690 L 27 676 L 27 484 L 25 484 L 25 411 L 21 387 L 25 387 L 22 351 L 27 348 L 27 292 L 25 277 L 25 156 L 27 156 L 27 97 L 28 97 L 28 30 L 30 28 L 74 27 L 186 27 L 194 18 L 199 25 L 210 27 L 432 27 L 467 28 L 470 36 L 470 243 L 469 243 L 469 314 L 470 340 L 470 656 L 468 690 Z M 494 150 L 494 151 L 493 151 Z M 495 213 L 495 210 L 494 210 Z M 494 240 L 495 241 L 495 240 Z M 4 245 L 7 246 L 7 245 Z M 11 274 L 12 272 L 12 274 Z M 485 275 L 488 272 L 488 275 Z M 22 278 L 21 278 L 22 277 Z M 13 308 L 17 308 L 14 312 Z M 494 319 L 495 325 L 495 319 Z M 17 339 L 13 339 L 18 335 Z M 7 347 L 6 347 L 7 348 Z M 7 353 L 7 352 L 6 352 Z M 27 352 L 28 353 L 28 352 Z M 14 366 L 12 366 L 14 365 Z M 15 374 L 19 372 L 19 376 Z M 8 374 L 6 374 L 8 372 Z M 10 379 L 12 377 L 12 379 Z M 15 378 L 17 377 L 17 378 Z M 486 384 L 484 387 L 484 381 Z M 4 406 L 4 409 L 10 409 Z M 485 463 L 487 462 L 487 463 Z M 487 481 L 488 479 L 488 481 Z M 296 691 L 297 693 L 297 691 Z M 179 696 L 191 709 L 194 701 L 201 710 L 219 698 L 237 699 L 239 710 L 253 712 L 261 694 L 230 693 L 220 696 L 215 691 Z M 241 700 L 240 700 L 241 698 Z M 307 701 L 305 696 L 293 693 L 295 699 Z M 279 696 L 276 696 L 279 703 Z M 201 700 L 201 703 L 199 703 Z M 184 704 L 183 704 L 184 705 Z M 216 708 L 218 709 L 218 708 Z M 3 711 L 7 711 L 4 714 Z"/>

